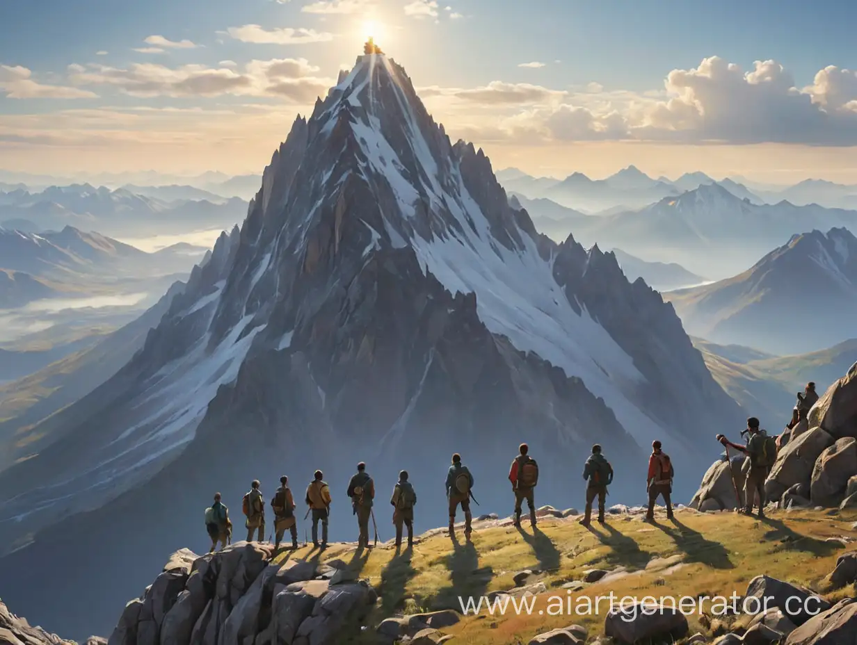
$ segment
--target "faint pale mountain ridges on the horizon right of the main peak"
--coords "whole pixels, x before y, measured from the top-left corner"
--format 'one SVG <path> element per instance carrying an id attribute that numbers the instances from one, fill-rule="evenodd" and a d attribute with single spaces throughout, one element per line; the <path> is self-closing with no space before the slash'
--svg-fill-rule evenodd
<path id="1" fill-rule="evenodd" d="M 743 178 L 724 177 L 716 180 L 704 172 L 687 172 L 671 180 L 653 178 L 630 165 L 605 179 L 590 179 L 575 172 L 565 179 L 534 177 L 517 168 L 497 173 L 506 191 L 523 194 L 530 199 L 547 198 L 562 206 L 595 214 L 617 206 L 632 210 L 647 206 L 665 197 L 676 197 L 700 186 L 718 184 L 740 200 L 752 204 L 779 204 L 788 201 L 795 206 L 818 204 L 827 208 L 857 209 L 857 185 L 806 179 L 788 187 L 748 186 Z M 755 184 L 754 184 L 755 186 Z"/>

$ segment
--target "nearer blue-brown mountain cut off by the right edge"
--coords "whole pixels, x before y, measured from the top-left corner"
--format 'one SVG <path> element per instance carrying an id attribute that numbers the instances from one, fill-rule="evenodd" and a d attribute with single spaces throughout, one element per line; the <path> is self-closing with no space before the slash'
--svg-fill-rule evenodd
<path id="1" fill-rule="evenodd" d="M 793 236 L 734 278 L 665 296 L 686 329 L 775 354 L 824 349 L 857 329 L 857 238 Z"/>

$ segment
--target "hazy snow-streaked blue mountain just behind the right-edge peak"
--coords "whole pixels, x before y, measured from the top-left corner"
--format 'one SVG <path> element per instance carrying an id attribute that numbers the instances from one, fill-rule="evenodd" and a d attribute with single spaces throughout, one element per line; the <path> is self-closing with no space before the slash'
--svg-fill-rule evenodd
<path id="1" fill-rule="evenodd" d="M 788 242 L 795 230 L 857 230 L 857 212 L 788 202 L 755 205 L 712 184 L 639 211 L 597 218 L 593 224 L 575 235 L 586 243 L 675 261 L 691 272 L 725 278 Z"/>

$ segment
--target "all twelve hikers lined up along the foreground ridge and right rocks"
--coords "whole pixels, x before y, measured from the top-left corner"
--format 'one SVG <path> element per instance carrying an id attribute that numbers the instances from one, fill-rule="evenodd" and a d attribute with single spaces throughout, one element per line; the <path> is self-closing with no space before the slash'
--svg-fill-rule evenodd
<path id="1" fill-rule="evenodd" d="M 792 423 L 788 425 L 789 430 L 798 422 L 806 419 L 809 409 L 812 408 L 812 404 L 816 401 L 818 401 L 818 394 L 815 393 L 815 384 L 809 383 L 806 385 L 806 390 L 802 394 L 798 394 L 798 404 L 794 409 Z M 743 503 L 741 502 L 737 486 L 735 486 L 735 496 L 740 510 L 748 515 L 752 514 L 754 499 L 758 497 L 758 517 L 764 517 L 764 481 L 776 460 L 777 448 L 780 445 L 782 437 L 769 436 L 764 430 L 759 428 L 759 421 L 755 417 L 747 419 L 746 430 L 741 433 L 741 436 L 743 437 L 745 434 L 749 435 L 746 444 L 735 444 L 726 439 L 722 434 L 718 434 L 716 439 L 726 448 L 727 458 L 729 457 L 728 451 L 730 447 L 749 457 L 750 469 L 746 474 Z M 512 466 L 509 469 L 508 479 L 512 483 L 512 493 L 515 499 L 514 526 L 518 528 L 521 526 L 524 501 L 526 501 L 527 508 L 530 511 L 530 525 L 535 527 L 537 521 L 535 488 L 538 484 L 538 464 L 535 459 L 530 457 L 529 453 L 530 448 L 528 445 L 519 445 L 518 456 L 512 460 Z M 582 525 L 590 525 L 592 506 L 596 499 L 598 502 L 597 521 L 599 523 L 605 522 L 604 507 L 608 494 L 608 486 L 613 482 L 613 475 L 613 468 L 603 456 L 601 445 L 593 445 L 592 453 L 584 464 L 583 477 L 587 483 L 584 517 L 579 521 Z M 673 490 L 674 475 L 673 464 L 668 455 L 662 451 L 661 442 L 652 442 L 649 469 L 646 475 L 646 491 L 649 497 L 649 504 L 644 518 L 645 522 L 654 523 L 655 505 L 659 497 L 663 499 L 666 506 L 668 520 L 674 518 L 672 500 L 670 499 L 670 494 Z M 280 486 L 270 502 L 274 516 L 274 549 L 279 549 L 280 542 L 283 540 L 286 530 L 291 534 L 291 548 L 297 549 L 295 499 L 289 488 L 289 478 L 283 475 L 279 481 Z M 464 512 L 464 538 L 470 541 L 473 522 L 470 512 L 470 500 L 476 501 L 473 497 L 474 483 L 475 481 L 470 470 L 461 462 L 461 456 L 458 453 L 452 455 L 452 465 L 446 474 L 446 497 L 449 501 L 449 534 L 453 538 L 455 535 L 455 519 L 458 507 L 460 506 L 461 511 Z M 369 520 L 371 519 L 375 523 L 375 513 L 373 511 L 375 481 L 366 472 L 365 463 L 361 462 L 357 464 L 357 473 L 351 477 L 346 494 L 351 499 L 353 514 L 357 516 L 357 527 L 359 530 L 357 548 L 372 548 L 373 545 L 369 543 Z M 324 549 L 327 547 L 327 525 L 330 517 L 332 498 L 330 487 L 324 481 L 324 475 L 321 470 L 315 471 L 313 481 L 309 483 L 304 495 L 304 502 L 308 507 L 304 519 L 309 517 L 310 514 L 312 515 L 313 545 Z M 405 529 L 407 529 L 408 534 L 408 546 L 413 546 L 414 506 L 417 505 L 417 493 L 414 491 L 411 482 L 408 481 L 408 472 L 406 470 L 399 472 L 399 481 L 393 487 L 390 504 L 393 505 L 396 547 L 400 548 L 402 546 Z M 265 535 L 265 500 L 260 490 L 259 481 L 253 481 L 249 492 L 244 495 L 242 511 L 247 518 L 245 522 L 247 540 L 252 541 L 255 536 L 258 541 L 262 541 Z M 318 535 L 320 523 L 321 542 Z M 231 541 L 232 526 L 229 519 L 229 510 L 221 501 L 220 493 L 215 493 L 213 505 L 206 509 L 206 526 L 208 535 L 212 540 L 212 552 L 218 546 L 218 543 L 220 544 L 220 548 L 223 548 Z M 375 525 L 376 540 L 377 534 L 378 529 L 377 525 Z"/>

